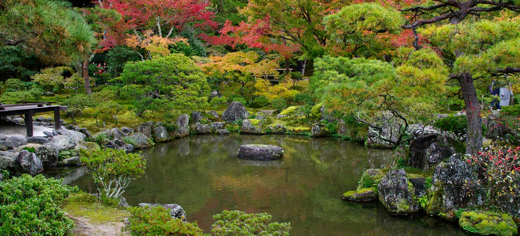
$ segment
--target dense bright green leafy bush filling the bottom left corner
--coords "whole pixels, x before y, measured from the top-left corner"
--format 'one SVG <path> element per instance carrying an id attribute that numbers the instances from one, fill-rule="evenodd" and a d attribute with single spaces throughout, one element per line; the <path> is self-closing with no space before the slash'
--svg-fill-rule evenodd
<path id="1" fill-rule="evenodd" d="M 74 228 L 61 210 L 62 201 L 77 187 L 43 175 L 6 179 L 0 182 L 0 234 L 64 235 Z"/>

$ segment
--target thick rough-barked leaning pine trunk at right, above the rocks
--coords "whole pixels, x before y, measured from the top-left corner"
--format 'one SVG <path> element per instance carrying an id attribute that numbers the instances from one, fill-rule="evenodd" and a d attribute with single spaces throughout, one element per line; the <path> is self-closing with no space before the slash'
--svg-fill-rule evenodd
<path id="1" fill-rule="evenodd" d="M 466 105 L 466 154 L 473 154 L 474 151 L 482 148 L 482 118 L 477 93 L 471 74 L 461 74 L 457 79 Z"/>

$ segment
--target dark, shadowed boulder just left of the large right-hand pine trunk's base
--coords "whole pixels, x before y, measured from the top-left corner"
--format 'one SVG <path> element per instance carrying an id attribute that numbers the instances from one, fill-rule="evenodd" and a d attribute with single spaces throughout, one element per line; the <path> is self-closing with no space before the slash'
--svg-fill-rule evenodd
<path id="1" fill-rule="evenodd" d="M 407 165 L 428 171 L 432 166 L 453 155 L 451 148 L 441 144 L 437 134 L 423 135 L 410 143 Z"/>

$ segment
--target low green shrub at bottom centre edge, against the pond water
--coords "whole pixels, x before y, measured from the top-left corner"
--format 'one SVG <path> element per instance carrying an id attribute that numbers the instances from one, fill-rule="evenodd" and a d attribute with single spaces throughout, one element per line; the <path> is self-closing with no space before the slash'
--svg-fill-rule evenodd
<path id="1" fill-rule="evenodd" d="M 211 233 L 216 236 L 289 235 L 290 223 L 269 223 L 267 213 L 247 214 L 241 211 L 224 211 L 213 216 Z"/>

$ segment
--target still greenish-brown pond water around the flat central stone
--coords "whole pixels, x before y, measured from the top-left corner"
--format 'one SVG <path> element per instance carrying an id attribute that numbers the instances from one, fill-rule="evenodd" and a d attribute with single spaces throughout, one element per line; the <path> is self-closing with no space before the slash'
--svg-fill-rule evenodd
<path id="1" fill-rule="evenodd" d="M 283 147 L 277 161 L 236 157 L 242 144 Z M 290 222 L 291 235 L 464 235 L 436 217 L 393 217 L 378 203 L 349 203 L 363 170 L 387 164 L 391 151 L 367 149 L 339 138 L 290 135 L 197 135 L 143 150 L 145 175 L 123 194 L 128 204 L 176 203 L 206 233 L 223 210 L 267 212 Z M 84 167 L 47 171 L 64 183 L 94 193 Z"/>

